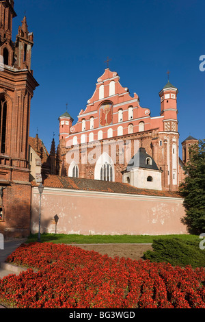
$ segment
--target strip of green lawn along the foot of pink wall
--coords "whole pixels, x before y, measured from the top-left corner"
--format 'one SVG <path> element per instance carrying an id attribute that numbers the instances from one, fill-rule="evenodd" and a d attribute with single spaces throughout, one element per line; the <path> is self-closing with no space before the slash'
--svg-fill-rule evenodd
<path id="1" fill-rule="evenodd" d="M 64 244 L 107 244 L 107 243 L 152 243 L 158 238 L 180 238 L 182 240 L 199 240 L 195 235 L 66 235 L 66 234 L 41 234 L 41 242 Z M 38 241 L 38 234 L 30 235 L 27 242 Z"/>

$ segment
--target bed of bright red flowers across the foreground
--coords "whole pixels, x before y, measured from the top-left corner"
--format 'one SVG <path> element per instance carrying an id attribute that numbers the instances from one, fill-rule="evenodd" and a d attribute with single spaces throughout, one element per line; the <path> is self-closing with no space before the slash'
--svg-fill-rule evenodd
<path id="1" fill-rule="evenodd" d="M 0 301 L 16 308 L 205 308 L 203 268 L 53 243 L 21 245 L 7 262 L 28 267 L 0 280 Z"/>

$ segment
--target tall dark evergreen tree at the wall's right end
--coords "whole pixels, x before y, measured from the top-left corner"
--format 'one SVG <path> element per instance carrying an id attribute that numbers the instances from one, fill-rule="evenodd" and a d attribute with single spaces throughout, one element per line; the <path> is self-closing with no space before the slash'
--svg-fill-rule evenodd
<path id="1" fill-rule="evenodd" d="M 184 197 L 185 216 L 182 222 L 189 232 L 205 232 L 205 140 L 189 149 L 189 162 L 184 166 L 186 177 L 180 186 Z"/>

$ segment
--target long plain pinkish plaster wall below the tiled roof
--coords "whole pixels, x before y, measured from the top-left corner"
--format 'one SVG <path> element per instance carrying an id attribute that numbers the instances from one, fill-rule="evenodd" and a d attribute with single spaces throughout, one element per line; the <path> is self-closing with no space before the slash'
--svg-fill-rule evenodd
<path id="1" fill-rule="evenodd" d="M 38 232 L 38 188 L 32 188 L 31 233 Z M 183 200 L 44 188 L 41 233 L 57 234 L 187 234 L 181 223 Z M 57 215 L 57 224 L 55 223 Z"/>

